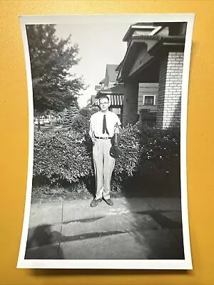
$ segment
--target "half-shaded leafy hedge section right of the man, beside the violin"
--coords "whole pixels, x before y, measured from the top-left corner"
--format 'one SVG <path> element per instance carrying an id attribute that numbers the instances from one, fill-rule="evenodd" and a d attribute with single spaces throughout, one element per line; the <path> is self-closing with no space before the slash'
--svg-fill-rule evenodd
<path id="1" fill-rule="evenodd" d="M 179 175 L 180 171 L 180 131 L 162 130 L 148 126 L 127 125 L 121 130 L 121 157 L 116 159 L 113 173 L 114 188 L 128 177 L 137 173 L 160 177 Z"/>

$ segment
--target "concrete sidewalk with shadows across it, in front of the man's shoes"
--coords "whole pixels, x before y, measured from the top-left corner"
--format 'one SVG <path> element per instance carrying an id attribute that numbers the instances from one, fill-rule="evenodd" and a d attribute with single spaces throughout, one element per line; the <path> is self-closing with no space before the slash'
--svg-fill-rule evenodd
<path id="1" fill-rule="evenodd" d="M 32 204 L 26 259 L 183 259 L 179 198 Z"/>

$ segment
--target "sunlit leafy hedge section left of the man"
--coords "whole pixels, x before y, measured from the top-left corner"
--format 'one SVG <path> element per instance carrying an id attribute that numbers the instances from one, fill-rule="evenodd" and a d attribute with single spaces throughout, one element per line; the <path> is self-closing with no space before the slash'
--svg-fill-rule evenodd
<path id="1" fill-rule="evenodd" d="M 35 134 L 34 177 L 72 183 L 88 175 L 92 175 L 91 155 L 81 133 L 59 130 Z"/>

